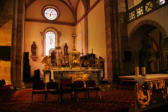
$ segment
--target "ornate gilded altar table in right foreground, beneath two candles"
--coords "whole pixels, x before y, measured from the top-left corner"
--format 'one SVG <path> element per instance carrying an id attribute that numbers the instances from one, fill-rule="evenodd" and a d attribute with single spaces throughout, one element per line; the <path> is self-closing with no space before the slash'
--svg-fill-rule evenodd
<path id="1" fill-rule="evenodd" d="M 162 96 L 162 103 L 168 99 L 168 74 L 146 74 L 119 76 L 121 82 L 135 82 L 137 104 L 145 108 L 151 103 L 151 96 L 155 92 Z"/>

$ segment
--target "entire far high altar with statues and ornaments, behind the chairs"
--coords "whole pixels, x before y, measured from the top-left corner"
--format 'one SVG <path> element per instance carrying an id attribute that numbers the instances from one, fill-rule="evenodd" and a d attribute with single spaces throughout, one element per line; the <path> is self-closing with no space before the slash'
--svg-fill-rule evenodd
<path id="1" fill-rule="evenodd" d="M 60 81 L 61 79 L 71 79 L 86 81 L 95 80 L 99 83 L 104 77 L 104 59 L 97 57 L 96 54 L 80 53 L 73 48 L 68 51 L 68 45 L 65 43 L 64 50 L 60 46 L 51 50 L 50 56 L 43 58 L 44 81 Z"/>

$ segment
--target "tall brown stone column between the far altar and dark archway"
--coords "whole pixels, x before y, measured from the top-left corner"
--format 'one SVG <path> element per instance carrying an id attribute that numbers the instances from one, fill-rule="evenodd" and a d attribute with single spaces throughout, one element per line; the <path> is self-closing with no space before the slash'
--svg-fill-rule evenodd
<path id="1" fill-rule="evenodd" d="M 108 79 L 113 81 L 120 72 L 121 42 L 118 0 L 104 0 Z"/>

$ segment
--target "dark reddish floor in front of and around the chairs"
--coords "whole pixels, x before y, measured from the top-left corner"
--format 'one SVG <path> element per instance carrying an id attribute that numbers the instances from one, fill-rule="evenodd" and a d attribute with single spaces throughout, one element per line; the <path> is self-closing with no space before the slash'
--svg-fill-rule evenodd
<path id="1" fill-rule="evenodd" d="M 126 112 L 135 106 L 134 90 L 118 85 L 107 86 L 102 89 L 102 100 L 91 94 L 91 99 L 86 99 L 85 93 L 80 93 L 80 101 L 71 100 L 70 95 L 65 95 L 62 104 L 58 103 L 58 96 L 48 94 L 48 103 L 44 103 L 43 95 L 35 95 L 31 104 L 31 88 L 1 92 L 0 112 Z"/>

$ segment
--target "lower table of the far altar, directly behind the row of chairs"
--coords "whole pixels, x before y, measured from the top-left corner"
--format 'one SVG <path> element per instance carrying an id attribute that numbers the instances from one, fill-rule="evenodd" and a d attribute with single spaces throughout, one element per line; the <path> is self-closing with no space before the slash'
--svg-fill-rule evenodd
<path id="1" fill-rule="evenodd" d="M 51 70 L 43 70 L 43 72 L 45 82 L 69 78 L 72 79 L 72 82 L 92 79 L 99 83 L 103 79 L 103 70 L 97 68 L 53 68 Z"/>

